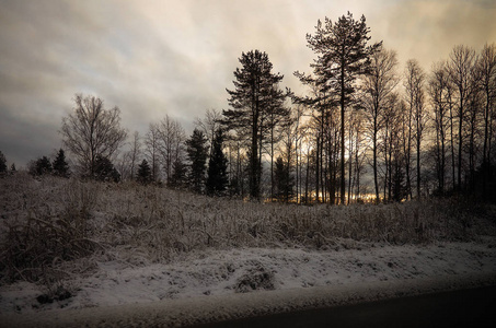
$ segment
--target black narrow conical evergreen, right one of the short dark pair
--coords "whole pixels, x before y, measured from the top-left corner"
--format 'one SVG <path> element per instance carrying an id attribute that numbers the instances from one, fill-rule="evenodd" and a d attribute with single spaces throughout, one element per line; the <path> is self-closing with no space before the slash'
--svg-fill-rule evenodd
<path id="1" fill-rule="evenodd" d="M 228 186 L 228 159 L 222 152 L 223 136 L 218 129 L 212 141 L 210 160 L 208 161 L 207 195 L 222 196 Z"/>

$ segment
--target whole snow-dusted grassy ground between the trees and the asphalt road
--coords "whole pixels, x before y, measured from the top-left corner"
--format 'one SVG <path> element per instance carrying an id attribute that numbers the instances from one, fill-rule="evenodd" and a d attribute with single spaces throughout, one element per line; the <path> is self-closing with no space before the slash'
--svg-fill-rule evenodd
<path id="1" fill-rule="evenodd" d="M 20 174 L 0 179 L 0 327 L 184 326 L 496 284 L 496 207 L 465 199 L 299 207 Z"/>

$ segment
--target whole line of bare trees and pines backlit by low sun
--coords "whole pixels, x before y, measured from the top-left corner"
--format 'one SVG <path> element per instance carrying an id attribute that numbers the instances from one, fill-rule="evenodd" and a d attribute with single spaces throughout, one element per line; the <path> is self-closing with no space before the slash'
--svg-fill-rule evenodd
<path id="1" fill-rule="evenodd" d="M 478 52 L 455 46 L 427 72 L 415 59 L 400 71 L 396 52 L 370 44 L 369 34 L 364 16 L 319 21 L 307 35 L 311 71 L 295 72 L 307 94 L 280 85 L 284 75 L 266 52 L 243 52 L 228 109 L 208 109 L 189 137 L 165 116 L 145 136 L 135 132 L 120 154 L 128 139 L 119 109 L 77 95 L 60 130 L 65 149 L 84 177 L 217 196 L 350 203 L 457 194 L 496 201 L 496 44 Z"/>

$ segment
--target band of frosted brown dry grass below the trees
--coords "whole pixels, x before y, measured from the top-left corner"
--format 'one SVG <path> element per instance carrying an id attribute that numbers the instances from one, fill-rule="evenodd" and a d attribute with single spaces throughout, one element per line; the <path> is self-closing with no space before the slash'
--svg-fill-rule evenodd
<path id="1" fill-rule="evenodd" d="M 136 184 L 0 179 L 0 281 L 82 273 L 91 258 L 129 265 L 199 249 L 354 247 L 474 241 L 495 233 L 488 211 L 460 199 L 350 207 L 254 203 Z M 71 263 L 71 265 L 68 265 Z"/>

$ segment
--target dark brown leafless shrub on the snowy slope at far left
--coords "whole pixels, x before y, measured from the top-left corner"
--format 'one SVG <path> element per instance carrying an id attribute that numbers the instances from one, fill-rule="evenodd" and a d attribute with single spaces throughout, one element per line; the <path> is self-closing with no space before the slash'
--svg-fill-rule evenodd
<path id="1" fill-rule="evenodd" d="M 55 186 L 51 185 L 54 181 Z M 76 181 L 62 185 L 53 179 L 48 185 L 51 194 L 60 197 L 59 207 L 51 207 L 53 199 L 32 207 L 24 204 L 24 215 L 2 222 L 5 232 L 1 236 L 0 271 L 11 281 L 48 282 L 51 278 L 47 272 L 56 272 L 60 262 L 88 256 L 101 248 L 88 236 L 95 190 Z M 37 197 L 47 191 L 41 189 Z"/>

